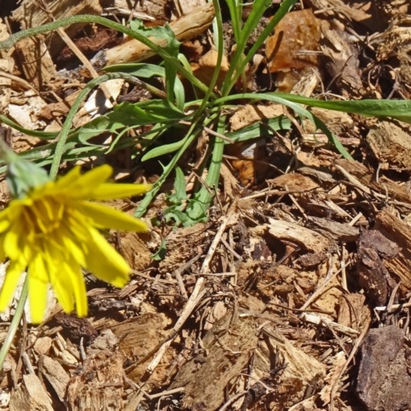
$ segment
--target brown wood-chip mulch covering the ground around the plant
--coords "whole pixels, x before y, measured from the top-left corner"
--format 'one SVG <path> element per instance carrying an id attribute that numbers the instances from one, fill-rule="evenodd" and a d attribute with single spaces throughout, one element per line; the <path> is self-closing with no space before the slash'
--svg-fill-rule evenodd
<path id="1" fill-rule="evenodd" d="M 76 8 L 50 1 L 39 9 L 23 0 L 2 12 L 0 39 L 29 21 L 49 21 L 50 14 L 42 14 L 46 6 L 55 18 L 105 11 L 120 19 L 130 15 L 130 3 L 85 1 Z M 261 26 L 278 4 L 273 0 Z M 242 85 L 248 91 L 410 98 L 408 0 L 303 0 L 295 10 L 258 51 Z M 147 25 L 171 20 L 173 30 L 188 16 L 193 27 L 182 29 L 182 50 L 196 75 L 210 78 L 210 4 L 145 0 L 134 12 Z M 248 14 L 245 9 L 243 18 Z M 97 25 L 66 32 L 87 57 L 100 53 L 96 69 L 120 54 L 127 59 L 125 44 L 132 47 Z M 225 44 L 219 82 L 233 39 Z M 58 130 L 73 96 L 92 77 L 89 68 L 57 34 L 0 51 L 6 73 L 0 74 L 0 111 L 28 128 Z M 104 92 L 117 101 L 151 98 L 129 85 L 116 87 Z M 278 114 L 293 126 L 229 146 L 207 222 L 165 222 L 170 180 L 148 212 L 158 226 L 144 235 L 110 233 L 133 267 L 129 284 L 118 290 L 87 275 L 87 318 L 61 312 L 51 298 L 41 326 L 25 320 L 0 373 L 1 409 L 411 408 L 409 124 L 312 109 L 351 161 L 283 107 L 241 103 L 235 111 L 233 131 Z M 87 110 L 82 116 L 76 126 L 89 120 Z M 2 136 L 18 152 L 43 144 L 7 125 Z M 206 150 L 206 137 L 180 164 L 185 175 Z M 133 163 L 127 150 L 81 163 L 87 168 L 101 161 L 113 165 L 119 180 L 155 181 L 161 172 L 158 163 Z M 192 189 L 190 180 L 187 190 Z M 9 199 L 4 181 L 0 199 L 2 207 Z M 125 201 L 112 205 L 130 213 L 137 207 Z M 153 259 L 162 241 L 166 252 Z M 2 341 L 11 316 L 12 307 L 2 314 Z"/>

